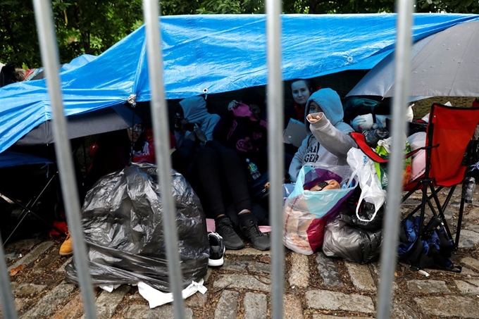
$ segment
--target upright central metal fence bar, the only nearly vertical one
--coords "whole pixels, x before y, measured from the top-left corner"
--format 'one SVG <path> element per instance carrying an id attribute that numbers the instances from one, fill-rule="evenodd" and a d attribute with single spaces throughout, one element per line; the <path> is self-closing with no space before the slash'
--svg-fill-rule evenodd
<path id="1" fill-rule="evenodd" d="M 282 180 L 284 176 L 283 82 L 281 72 L 281 1 L 266 0 L 268 53 L 268 171 L 271 232 L 272 318 L 282 318 L 285 254 L 282 241 Z"/>

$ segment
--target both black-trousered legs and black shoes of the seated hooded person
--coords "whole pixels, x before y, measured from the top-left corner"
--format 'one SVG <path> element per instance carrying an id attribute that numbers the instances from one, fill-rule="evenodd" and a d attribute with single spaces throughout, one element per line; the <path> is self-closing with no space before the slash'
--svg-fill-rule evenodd
<path id="1" fill-rule="evenodd" d="M 206 215 L 213 215 L 216 232 L 223 237 L 226 249 L 244 248 L 242 239 L 226 215 L 226 208 L 230 205 L 237 213 L 241 233 L 251 245 L 259 250 L 270 248 L 269 238 L 260 232 L 251 213 L 242 161 L 234 150 L 207 139 L 206 134 L 196 126 L 171 156 L 173 168 L 192 185 Z"/>

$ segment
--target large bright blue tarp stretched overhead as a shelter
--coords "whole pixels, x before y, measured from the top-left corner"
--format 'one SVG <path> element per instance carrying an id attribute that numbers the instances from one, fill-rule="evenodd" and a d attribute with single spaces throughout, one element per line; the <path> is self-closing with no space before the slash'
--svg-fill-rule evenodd
<path id="1" fill-rule="evenodd" d="M 394 48 L 395 14 L 282 15 L 284 80 L 372 68 Z M 479 15 L 415 14 L 416 41 Z M 266 85 L 266 15 L 161 18 L 167 99 Z M 144 26 L 61 73 L 66 115 L 150 100 Z M 0 89 L 0 152 L 51 119 L 45 80 Z"/>

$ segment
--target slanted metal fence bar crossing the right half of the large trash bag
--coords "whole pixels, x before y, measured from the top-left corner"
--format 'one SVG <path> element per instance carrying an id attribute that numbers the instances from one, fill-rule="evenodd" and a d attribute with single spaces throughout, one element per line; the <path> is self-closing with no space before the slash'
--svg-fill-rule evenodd
<path id="1" fill-rule="evenodd" d="M 161 50 L 161 32 L 158 23 L 158 0 L 143 0 L 143 15 L 147 35 L 148 73 L 151 88 L 151 113 L 155 137 L 156 163 L 158 164 L 163 202 L 163 232 L 166 240 L 166 256 L 170 289 L 173 291 L 175 318 L 185 318 L 182 299 L 182 275 L 178 254 L 178 229 L 176 208 L 171 191 L 170 143 L 168 140 L 168 106 L 165 101 L 163 85 L 163 53 Z"/>

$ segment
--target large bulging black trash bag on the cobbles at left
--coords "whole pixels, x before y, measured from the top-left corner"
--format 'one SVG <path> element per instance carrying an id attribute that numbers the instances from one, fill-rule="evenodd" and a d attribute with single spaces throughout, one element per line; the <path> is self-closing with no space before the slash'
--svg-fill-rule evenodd
<path id="1" fill-rule="evenodd" d="M 95 286 L 144 282 L 170 292 L 167 240 L 163 235 L 161 187 L 156 165 L 132 164 L 105 175 L 88 192 L 82 208 L 89 272 Z M 198 196 L 185 177 L 172 170 L 172 192 L 183 288 L 206 275 L 209 241 Z M 78 283 L 75 263 L 66 280 Z"/>

